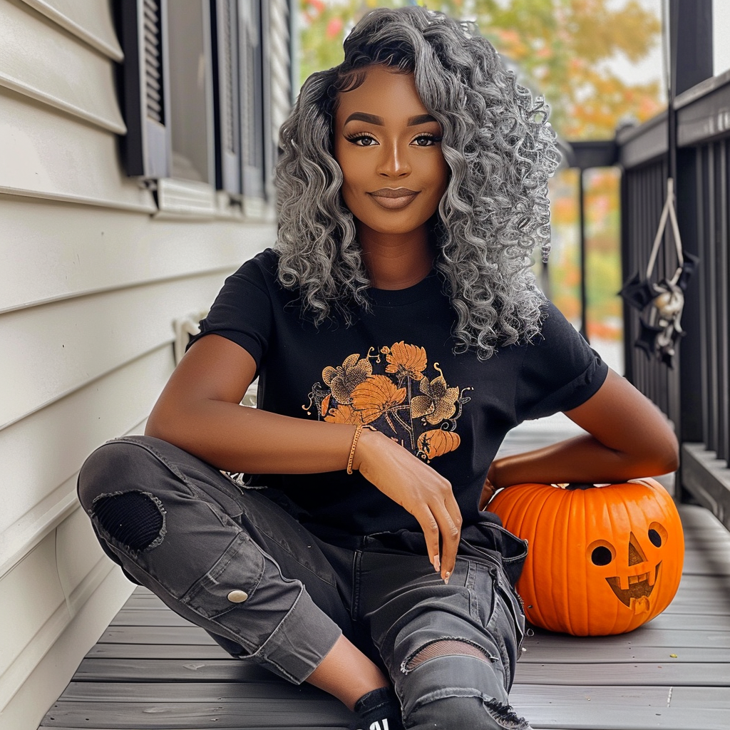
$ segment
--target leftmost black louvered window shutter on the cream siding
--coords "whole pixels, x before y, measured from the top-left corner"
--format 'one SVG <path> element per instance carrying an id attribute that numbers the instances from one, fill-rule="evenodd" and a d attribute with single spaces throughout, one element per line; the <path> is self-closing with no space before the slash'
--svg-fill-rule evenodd
<path id="1" fill-rule="evenodd" d="M 123 159 L 131 176 L 169 177 L 167 0 L 124 0 L 118 5 L 124 51 Z"/>

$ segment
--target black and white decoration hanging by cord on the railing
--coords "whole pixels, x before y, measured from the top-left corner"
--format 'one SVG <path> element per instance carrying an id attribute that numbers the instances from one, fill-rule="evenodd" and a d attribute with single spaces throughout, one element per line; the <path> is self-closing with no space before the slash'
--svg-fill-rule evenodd
<path id="1" fill-rule="evenodd" d="M 658 283 L 650 281 L 656 264 L 666 222 L 672 223 L 672 237 L 677 247 L 677 271 L 671 279 L 662 279 Z M 624 283 L 619 292 L 631 307 L 639 310 L 639 337 L 634 347 L 643 350 L 647 358 L 657 356 L 661 362 L 673 367 L 676 345 L 680 337 L 684 337 L 682 329 L 682 310 L 684 308 L 684 292 L 688 281 L 699 264 L 699 258 L 682 250 L 682 239 L 677 226 L 675 213 L 674 180 L 666 181 L 666 202 L 661 211 L 659 226 L 651 249 L 645 278 L 634 274 Z"/>

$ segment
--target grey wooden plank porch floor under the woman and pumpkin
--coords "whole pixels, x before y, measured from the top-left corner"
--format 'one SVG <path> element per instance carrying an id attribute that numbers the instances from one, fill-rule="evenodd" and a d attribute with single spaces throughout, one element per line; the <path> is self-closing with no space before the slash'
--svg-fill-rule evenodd
<path id="1" fill-rule="evenodd" d="M 529 424 L 504 451 L 570 432 L 560 419 Z M 730 534 L 701 507 L 683 505 L 680 515 L 685 567 L 663 614 L 615 637 L 527 637 L 511 699 L 534 728 L 730 729 Z M 231 658 L 137 588 L 40 727 L 293 730 L 346 728 L 351 719 L 323 692 Z"/>

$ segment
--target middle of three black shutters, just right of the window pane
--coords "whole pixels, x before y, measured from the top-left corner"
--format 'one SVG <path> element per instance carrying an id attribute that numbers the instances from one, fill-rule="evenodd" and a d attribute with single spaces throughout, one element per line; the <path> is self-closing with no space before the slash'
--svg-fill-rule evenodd
<path id="1" fill-rule="evenodd" d="M 237 0 L 210 0 L 215 112 L 215 187 L 241 192 Z"/>

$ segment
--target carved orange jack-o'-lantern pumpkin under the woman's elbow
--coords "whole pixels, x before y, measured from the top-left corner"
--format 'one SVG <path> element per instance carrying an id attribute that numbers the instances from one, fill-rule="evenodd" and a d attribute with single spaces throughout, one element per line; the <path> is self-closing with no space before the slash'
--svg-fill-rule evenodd
<path id="1" fill-rule="evenodd" d="M 661 484 L 520 484 L 488 505 L 529 554 L 517 583 L 535 626 L 623 634 L 661 613 L 682 576 L 684 535 Z"/>

